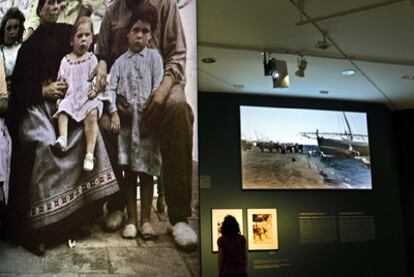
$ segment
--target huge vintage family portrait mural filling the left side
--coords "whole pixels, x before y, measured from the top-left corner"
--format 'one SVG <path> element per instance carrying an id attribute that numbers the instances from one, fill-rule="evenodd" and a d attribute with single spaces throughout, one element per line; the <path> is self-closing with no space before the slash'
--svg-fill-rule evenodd
<path id="1" fill-rule="evenodd" d="M 0 19 L 0 275 L 198 275 L 196 0 Z"/>

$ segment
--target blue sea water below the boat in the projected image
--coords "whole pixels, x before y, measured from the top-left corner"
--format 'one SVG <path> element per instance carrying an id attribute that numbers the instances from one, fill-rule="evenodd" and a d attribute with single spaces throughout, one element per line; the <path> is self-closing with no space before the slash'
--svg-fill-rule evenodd
<path id="1" fill-rule="evenodd" d="M 318 153 L 319 147 L 304 145 L 303 153 Z M 315 164 L 325 182 L 338 189 L 372 189 L 371 168 L 362 163 L 360 158 L 322 157 L 312 155 L 307 159 Z"/>

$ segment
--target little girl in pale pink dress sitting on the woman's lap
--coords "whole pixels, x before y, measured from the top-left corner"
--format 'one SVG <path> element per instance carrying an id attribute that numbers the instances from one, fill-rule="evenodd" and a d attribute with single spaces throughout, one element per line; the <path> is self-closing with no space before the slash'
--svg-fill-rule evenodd
<path id="1" fill-rule="evenodd" d="M 94 150 L 98 133 L 98 118 L 102 115 L 103 103 L 95 98 L 96 91 L 89 76 L 98 63 L 96 56 L 89 52 L 93 38 L 93 25 L 89 17 L 80 17 L 73 26 L 71 45 L 73 51 L 61 61 L 58 79 L 66 82 L 65 97 L 58 101 L 59 137 L 55 146 L 62 151 L 67 147 L 69 118 L 85 125 L 86 155 L 83 163 L 85 171 L 94 167 Z"/>

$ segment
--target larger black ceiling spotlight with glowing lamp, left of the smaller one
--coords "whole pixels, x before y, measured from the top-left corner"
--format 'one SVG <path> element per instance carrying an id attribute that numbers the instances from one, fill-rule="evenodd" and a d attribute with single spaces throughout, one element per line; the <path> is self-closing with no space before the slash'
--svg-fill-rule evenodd
<path id="1" fill-rule="evenodd" d="M 287 71 L 286 61 L 276 60 L 272 58 L 269 60 L 269 54 L 263 52 L 263 66 L 265 76 L 272 76 L 273 88 L 288 88 L 289 75 Z"/>

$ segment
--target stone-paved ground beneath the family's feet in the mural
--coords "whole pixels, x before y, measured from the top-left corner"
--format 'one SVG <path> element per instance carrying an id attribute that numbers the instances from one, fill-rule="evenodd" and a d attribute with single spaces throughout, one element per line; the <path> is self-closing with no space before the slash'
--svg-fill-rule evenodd
<path id="1" fill-rule="evenodd" d="M 198 187 L 197 177 L 194 187 Z M 193 199 L 189 223 L 198 233 L 198 189 L 193 189 Z M 155 204 L 154 198 L 151 221 L 160 234 L 158 240 L 126 240 L 120 231 L 103 232 L 98 221 L 76 247 L 56 245 L 44 257 L 0 241 L 0 276 L 199 276 L 199 249 L 184 252 L 175 247 L 167 231 L 167 215 L 157 213 Z"/>

